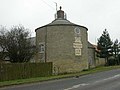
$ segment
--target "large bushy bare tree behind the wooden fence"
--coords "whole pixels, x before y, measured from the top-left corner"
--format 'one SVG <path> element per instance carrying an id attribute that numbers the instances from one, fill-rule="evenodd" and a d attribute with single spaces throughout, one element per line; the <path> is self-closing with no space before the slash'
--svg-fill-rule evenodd
<path id="1" fill-rule="evenodd" d="M 3 46 L 0 46 L 4 47 L 3 49 L 7 52 L 4 54 L 9 57 L 10 62 L 28 62 L 34 55 L 35 50 L 29 39 L 30 33 L 23 26 L 13 26 L 10 31 L 1 33 L 0 39 L 2 38 Z"/>

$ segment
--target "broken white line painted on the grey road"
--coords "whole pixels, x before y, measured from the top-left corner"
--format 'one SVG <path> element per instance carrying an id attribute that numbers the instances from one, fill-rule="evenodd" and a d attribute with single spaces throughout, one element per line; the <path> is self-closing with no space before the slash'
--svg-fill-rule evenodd
<path id="1" fill-rule="evenodd" d="M 117 78 L 117 77 L 120 77 L 120 74 L 117 74 L 117 75 L 114 75 L 113 77 L 109 77 L 109 78 L 102 79 L 102 80 L 99 80 L 99 81 L 95 81 L 93 83 L 98 83 L 98 82 L 114 79 L 114 78 Z M 89 83 L 88 84 L 87 83 L 82 83 L 82 84 L 74 85 L 74 86 L 72 86 L 70 88 L 67 88 L 67 89 L 64 89 L 64 90 L 72 90 L 72 89 L 75 89 L 75 88 L 79 88 L 80 86 L 86 86 L 86 85 L 90 85 L 90 84 Z"/>

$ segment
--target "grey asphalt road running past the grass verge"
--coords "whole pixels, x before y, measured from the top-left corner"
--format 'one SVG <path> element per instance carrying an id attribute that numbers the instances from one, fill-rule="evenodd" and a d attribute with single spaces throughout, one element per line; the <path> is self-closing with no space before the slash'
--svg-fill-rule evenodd
<path id="1" fill-rule="evenodd" d="M 0 90 L 120 90 L 120 69 L 46 81 L 34 84 L 15 85 Z"/>

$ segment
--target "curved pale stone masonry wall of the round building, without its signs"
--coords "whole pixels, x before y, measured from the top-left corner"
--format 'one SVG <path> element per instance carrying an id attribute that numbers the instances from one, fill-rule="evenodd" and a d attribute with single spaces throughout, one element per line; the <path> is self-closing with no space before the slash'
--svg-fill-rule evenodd
<path id="1" fill-rule="evenodd" d="M 81 56 L 75 56 L 73 43 L 75 41 L 74 28 L 79 27 L 81 33 Z M 36 45 L 46 42 L 47 62 L 53 62 L 55 71 L 78 72 L 88 68 L 88 39 L 86 28 L 72 25 L 56 25 L 42 27 L 36 31 Z M 36 59 L 42 61 L 45 53 L 37 53 Z"/>

